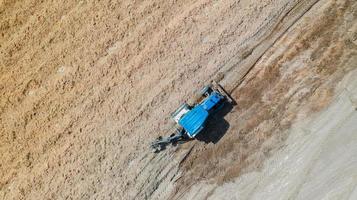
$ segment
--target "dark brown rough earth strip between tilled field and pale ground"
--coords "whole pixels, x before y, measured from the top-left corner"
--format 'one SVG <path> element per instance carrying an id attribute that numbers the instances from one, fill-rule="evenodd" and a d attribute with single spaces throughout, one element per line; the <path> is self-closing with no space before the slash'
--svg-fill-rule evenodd
<path id="1" fill-rule="evenodd" d="M 259 169 L 301 109 L 308 116 L 329 104 L 334 84 L 357 64 L 356 46 L 345 36 L 347 9 L 344 2 L 316 11 L 317 19 L 302 20 L 259 60 L 232 93 L 238 105 L 226 118 L 227 134 L 217 145 L 197 144 L 183 165 L 188 182 L 216 177 L 222 183 Z"/>

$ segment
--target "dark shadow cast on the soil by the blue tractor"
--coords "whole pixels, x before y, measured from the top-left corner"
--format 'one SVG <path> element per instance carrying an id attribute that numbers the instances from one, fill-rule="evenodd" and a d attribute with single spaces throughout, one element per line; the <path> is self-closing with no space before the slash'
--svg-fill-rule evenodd
<path id="1" fill-rule="evenodd" d="M 226 134 L 229 123 L 224 119 L 232 111 L 234 103 L 225 103 L 223 107 L 208 119 L 206 127 L 195 138 L 205 143 L 216 144 Z"/>

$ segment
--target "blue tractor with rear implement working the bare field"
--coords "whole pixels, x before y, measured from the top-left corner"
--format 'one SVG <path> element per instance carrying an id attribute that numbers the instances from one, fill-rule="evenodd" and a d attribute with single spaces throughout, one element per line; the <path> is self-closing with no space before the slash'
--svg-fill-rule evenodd
<path id="1" fill-rule="evenodd" d="M 176 123 L 173 133 L 168 137 L 160 136 L 152 142 L 153 152 L 158 153 L 169 144 L 175 145 L 194 139 L 204 129 L 208 117 L 222 108 L 225 102 L 232 101 L 218 83 L 212 82 L 205 86 L 189 103 L 183 103 L 171 114 Z"/>

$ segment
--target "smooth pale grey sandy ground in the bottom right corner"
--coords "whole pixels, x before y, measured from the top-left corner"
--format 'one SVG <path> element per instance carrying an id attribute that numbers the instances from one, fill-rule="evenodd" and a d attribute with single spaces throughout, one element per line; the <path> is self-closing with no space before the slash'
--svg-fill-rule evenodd
<path id="1" fill-rule="evenodd" d="M 246 173 L 210 194 L 188 192 L 200 199 L 356 199 L 357 70 L 336 88 L 330 106 L 288 130 L 285 147 L 260 170 Z M 197 192 L 199 191 L 199 192 Z M 229 195 L 227 195 L 229 194 Z M 191 195 L 191 196 L 189 196 Z M 195 198 L 193 198 L 195 197 Z"/>

